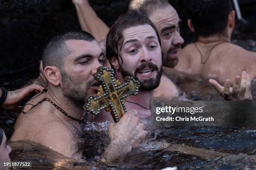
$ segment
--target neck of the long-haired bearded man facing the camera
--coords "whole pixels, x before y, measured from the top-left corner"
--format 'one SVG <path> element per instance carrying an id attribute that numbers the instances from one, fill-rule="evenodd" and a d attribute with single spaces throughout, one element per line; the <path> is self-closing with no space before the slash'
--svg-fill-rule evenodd
<path id="1" fill-rule="evenodd" d="M 151 90 L 151 91 L 140 90 L 138 92 L 138 95 L 129 96 L 127 99 L 128 100 L 126 100 L 126 101 L 128 101 L 128 102 L 131 101 L 131 102 L 134 102 L 134 103 L 138 103 L 138 105 L 141 105 L 143 107 L 146 107 L 146 108 L 150 109 L 153 105 L 154 90 Z"/>

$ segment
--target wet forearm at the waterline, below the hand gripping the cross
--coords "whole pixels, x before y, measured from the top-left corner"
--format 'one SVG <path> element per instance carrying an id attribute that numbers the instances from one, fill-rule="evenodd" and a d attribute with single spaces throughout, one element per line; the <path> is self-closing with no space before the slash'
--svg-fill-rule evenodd
<path id="1" fill-rule="evenodd" d="M 100 162 L 112 163 L 117 160 L 122 161 L 125 156 L 131 152 L 132 148 L 128 145 L 122 145 L 118 142 L 111 141 L 108 148 L 101 155 Z"/>

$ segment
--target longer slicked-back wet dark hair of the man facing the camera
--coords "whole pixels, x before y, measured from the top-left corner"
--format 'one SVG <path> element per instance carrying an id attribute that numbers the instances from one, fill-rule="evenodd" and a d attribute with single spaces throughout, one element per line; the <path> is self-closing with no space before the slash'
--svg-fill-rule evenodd
<path id="1" fill-rule="evenodd" d="M 106 37 L 106 56 L 108 60 L 110 60 L 112 57 L 115 57 L 118 60 L 118 56 L 120 57 L 120 49 L 123 46 L 123 40 L 124 40 L 123 31 L 125 29 L 136 27 L 138 25 L 147 25 L 147 24 L 151 25 L 151 27 L 155 30 L 159 44 L 161 45 L 161 40 L 156 30 L 156 27 L 146 17 L 146 15 L 143 15 L 135 10 L 128 10 L 126 13 L 121 15 L 115 21 L 115 23 L 111 26 L 108 32 L 108 35 Z"/>

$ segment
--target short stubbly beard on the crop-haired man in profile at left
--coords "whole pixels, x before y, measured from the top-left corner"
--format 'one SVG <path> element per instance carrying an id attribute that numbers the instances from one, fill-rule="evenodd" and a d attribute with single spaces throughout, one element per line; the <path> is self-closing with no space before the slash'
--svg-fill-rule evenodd
<path id="1" fill-rule="evenodd" d="M 63 82 L 62 92 L 64 97 L 75 103 L 84 104 L 84 101 L 88 99 L 88 90 L 94 83 L 94 80 L 90 80 L 86 83 L 85 87 L 79 86 L 79 82 L 74 82 L 72 78 L 67 75 L 65 71 L 61 71 L 61 78 Z"/>

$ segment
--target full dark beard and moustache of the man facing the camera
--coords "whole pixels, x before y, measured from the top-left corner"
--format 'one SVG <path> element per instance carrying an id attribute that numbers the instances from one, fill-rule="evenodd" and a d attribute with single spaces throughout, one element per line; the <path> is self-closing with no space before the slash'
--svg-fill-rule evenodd
<path id="1" fill-rule="evenodd" d="M 137 73 L 140 70 L 142 70 L 143 68 L 146 68 L 146 67 L 152 68 L 157 72 L 156 79 L 150 78 L 148 80 L 144 80 L 143 82 L 140 81 L 141 82 L 140 90 L 151 91 L 151 90 L 156 89 L 156 87 L 158 87 L 159 84 L 160 84 L 161 76 L 162 76 L 162 73 L 163 73 L 162 65 L 161 65 L 160 70 L 159 70 L 159 68 L 155 64 L 153 64 L 152 62 L 149 62 L 148 64 L 143 63 L 139 67 L 136 68 L 136 70 L 134 71 L 134 75 L 132 75 L 127 70 L 125 70 L 121 65 L 120 66 L 120 72 L 121 72 L 123 78 L 126 77 L 126 76 L 132 76 L 132 77 L 134 77 L 135 79 L 138 80 Z"/>

